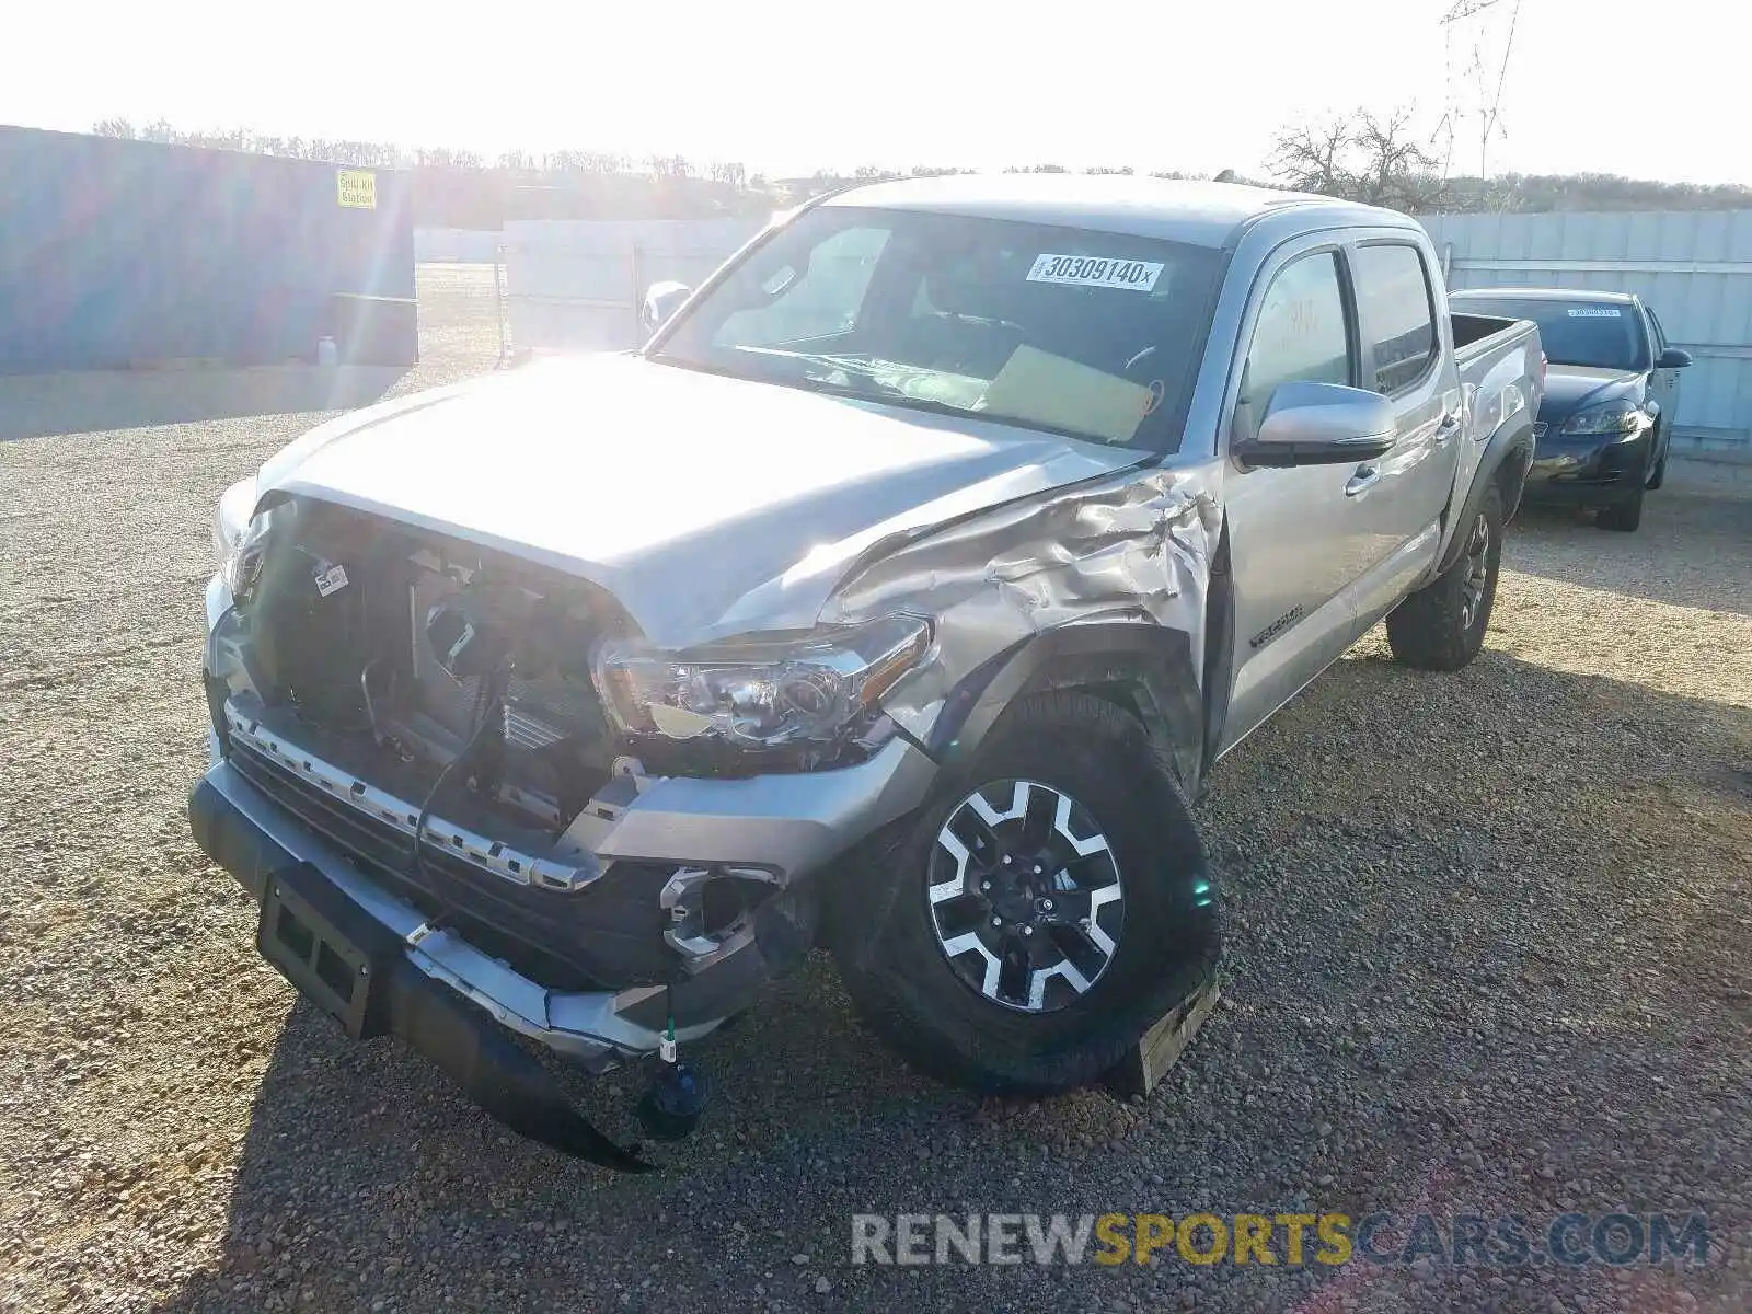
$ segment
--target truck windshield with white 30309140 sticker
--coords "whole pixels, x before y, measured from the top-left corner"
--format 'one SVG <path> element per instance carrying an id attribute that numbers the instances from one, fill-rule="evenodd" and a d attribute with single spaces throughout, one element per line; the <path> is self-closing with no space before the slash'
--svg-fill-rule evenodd
<path id="1" fill-rule="evenodd" d="M 1100 443 L 1174 450 L 1221 252 L 965 215 L 822 205 L 648 356 Z"/>

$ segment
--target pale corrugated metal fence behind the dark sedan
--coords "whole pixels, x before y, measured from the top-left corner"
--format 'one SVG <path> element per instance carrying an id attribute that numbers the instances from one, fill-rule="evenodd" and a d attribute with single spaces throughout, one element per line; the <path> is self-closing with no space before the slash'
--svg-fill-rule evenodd
<path id="1" fill-rule="evenodd" d="M 1642 296 L 1696 364 L 1673 438 L 1752 456 L 1752 210 L 1444 214 L 1423 221 L 1449 287 L 1591 287 Z"/>

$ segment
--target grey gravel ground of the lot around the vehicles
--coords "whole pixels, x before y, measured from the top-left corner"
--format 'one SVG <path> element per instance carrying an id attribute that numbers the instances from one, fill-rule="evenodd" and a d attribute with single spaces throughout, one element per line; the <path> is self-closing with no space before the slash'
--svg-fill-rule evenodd
<path id="1" fill-rule="evenodd" d="M 478 272 L 420 294 L 426 363 L 352 377 L 349 401 L 491 366 Z M 0 1307 L 1752 1302 L 1743 487 L 1675 478 L 1635 536 L 1526 517 L 1472 668 L 1402 671 L 1377 632 L 1223 764 L 1200 820 L 1226 997 L 1151 1099 L 979 1107 L 901 1070 L 815 964 L 711 1044 L 720 1099 L 671 1169 L 622 1179 L 501 1134 L 415 1055 L 349 1046 L 254 957 L 252 908 L 189 839 L 208 512 L 319 419 L 303 387 L 0 380 Z M 249 415 L 263 389 L 303 413 Z M 130 399 L 151 424 L 116 427 Z M 631 1135 L 636 1090 L 582 1097 Z M 853 1212 L 1298 1205 L 1706 1211 L 1717 1249 L 848 1261 Z"/>

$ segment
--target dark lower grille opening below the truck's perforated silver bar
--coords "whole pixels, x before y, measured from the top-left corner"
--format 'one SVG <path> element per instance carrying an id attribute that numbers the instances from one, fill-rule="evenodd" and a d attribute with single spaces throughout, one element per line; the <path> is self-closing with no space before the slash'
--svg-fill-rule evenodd
<path id="1" fill-rule="evenodd" d="M 231 764 L 258 790 L 340 844 L 354 862 L 484 953 L 550 990 L 661 985 L 680 965 L 664 944 L 659 906 L 673 867 L 617 862 L 578 890 L 515 885 L 445 851 L 429 837 L 420 869 L 412 836 L 373 820 L 247 743 Z"/>

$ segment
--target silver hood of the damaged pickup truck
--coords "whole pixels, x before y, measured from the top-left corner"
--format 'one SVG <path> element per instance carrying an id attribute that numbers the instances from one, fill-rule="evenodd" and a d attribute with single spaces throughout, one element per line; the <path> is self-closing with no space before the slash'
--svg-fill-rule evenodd
<path id="1" fill-rule="evenodd" d="M 548 361 L 352 412 L 263 466 L 587 578 L 666 646 L 815 624 L 860 557 L 1137 464 L 1132 449 L 696 373 Z"/>

